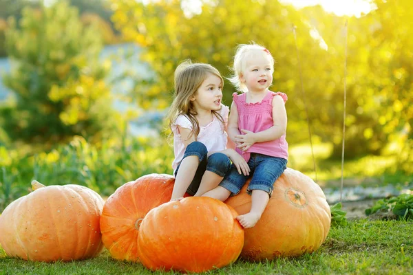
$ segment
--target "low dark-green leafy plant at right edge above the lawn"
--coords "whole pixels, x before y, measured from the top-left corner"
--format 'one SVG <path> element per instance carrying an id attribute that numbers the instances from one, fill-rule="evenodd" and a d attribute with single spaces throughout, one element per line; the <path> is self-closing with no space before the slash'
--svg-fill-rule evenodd
<path id="1" fill-rule="evenodd" d="M 389 199 L 379 199 L 372 208 L 366 209 L 366 215 L 390 211 L 399 219 L 413 219 L 413 195 L 401 194 Z"/>

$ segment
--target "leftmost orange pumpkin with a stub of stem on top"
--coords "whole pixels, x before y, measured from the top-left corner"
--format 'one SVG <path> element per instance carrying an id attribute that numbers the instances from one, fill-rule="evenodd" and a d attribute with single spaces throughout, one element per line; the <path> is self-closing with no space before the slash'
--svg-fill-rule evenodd
<path id="1" fill-rule="evenodd" d="M 0 244 L 8 256 L 30 261 L 72 261 L 103 248 L 99 218 L 103 199 L 76 184 L 43 186 L 10 203 L 0 216 Z"/>

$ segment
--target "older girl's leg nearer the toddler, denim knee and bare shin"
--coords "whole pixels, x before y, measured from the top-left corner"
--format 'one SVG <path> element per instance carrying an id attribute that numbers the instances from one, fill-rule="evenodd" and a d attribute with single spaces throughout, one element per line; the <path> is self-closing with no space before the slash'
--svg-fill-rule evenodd
<path id="1" fill-rule="evenodd" d="M 210 155 L 208 157 L 207 169 L 202 176 L 200 187 L 194 197 L 200 197 L 217 187 L 230 168 L 231 161 L 229 160 L 229 157 L 223 153 L 213 153 Z"/>

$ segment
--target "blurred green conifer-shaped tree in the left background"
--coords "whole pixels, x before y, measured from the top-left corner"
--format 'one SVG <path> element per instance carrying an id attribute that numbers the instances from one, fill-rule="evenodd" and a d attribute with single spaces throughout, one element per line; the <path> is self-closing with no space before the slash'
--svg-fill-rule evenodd
<path id="1" fill-rule="evenodd" d="M 13 140 L 59 142 L 114 126 L 104 81 L 110 64 L 99 61 L 100 36 L 83 27 L 75 8 L 64 1 L 43 10 L 25 8 L 19 26 L 9 23 L 12 71 L 3 81 L 16 105 L 4 129 Z"/>

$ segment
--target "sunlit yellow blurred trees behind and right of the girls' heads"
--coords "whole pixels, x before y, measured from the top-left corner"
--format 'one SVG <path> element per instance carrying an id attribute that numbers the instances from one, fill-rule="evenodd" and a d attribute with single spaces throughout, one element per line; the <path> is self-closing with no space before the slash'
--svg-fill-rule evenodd
<path id="1" fill-rule="evenodd" d="M 185 10 L 178 0 L 112 3 L 116 27 L 144 48 L 141 59 L 155 73 L 136 85 L 134 97 L 142 107 L 168 106 L 173 70 L 182 60 L 211 63 L 229 76 L 236 45 L 255 41 L 277 61 L 272 89 L 290 98 L 288 141 L 308 140 L 308 107 L 313 134 L 332 142 L 332 156 L 341 157 L 348 20 L 346 157 L 379 154 L 396 137 L 412 135 L 411 1 L 377 1 L 379 8 L 359 19 L 337 17 L 321 6 L 295 10 L 278 1 L 202 1 L 200 13 Z M 304 95 L 292 25 L 297 26 Z M 226 82 L 225 104 L 231 104 L 233 91 Z"/>

